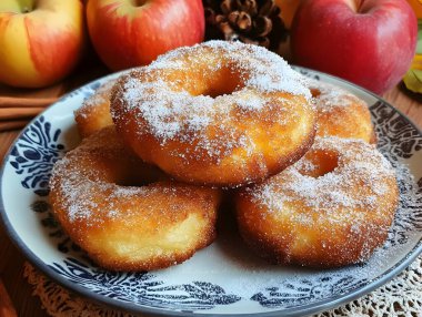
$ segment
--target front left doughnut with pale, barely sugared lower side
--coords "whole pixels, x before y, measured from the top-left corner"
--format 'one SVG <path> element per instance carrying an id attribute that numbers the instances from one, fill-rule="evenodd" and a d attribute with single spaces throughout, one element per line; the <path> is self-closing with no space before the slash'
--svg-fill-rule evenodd
<path id="1" fill-rule="evenodd" d="M 113 126 L 105 127 L 54 165 L 53 214 L 104 268 L 145 270 L 181 263 L 214 239 L 220 192 L 171 181 L 142 185 L 154 173 L 125 151 Z"/>

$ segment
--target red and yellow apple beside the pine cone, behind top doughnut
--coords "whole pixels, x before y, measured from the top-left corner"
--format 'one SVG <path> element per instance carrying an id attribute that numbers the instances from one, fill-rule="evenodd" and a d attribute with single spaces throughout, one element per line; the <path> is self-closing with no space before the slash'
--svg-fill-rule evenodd
<path id="1" fill-rule="evenodd" d="M 149 64 L 204 34 L 201 0 L 89 0 L 87 18 L 92 44 L 111 70 Z"/>

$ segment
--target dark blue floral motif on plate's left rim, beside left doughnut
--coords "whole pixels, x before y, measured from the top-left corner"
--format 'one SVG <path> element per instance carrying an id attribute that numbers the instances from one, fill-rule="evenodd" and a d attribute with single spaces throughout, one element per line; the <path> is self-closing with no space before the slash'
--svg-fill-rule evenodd
<path id="1" fill-rule="evenodd" d="M 48 195 L 52 166 L 64 153 L 64 145 L 58 143 L 60 133 L 41 115 L 23 131 L 10 153 L 10 164 L 23 176 L 22 186 L 39 196 Z"/>

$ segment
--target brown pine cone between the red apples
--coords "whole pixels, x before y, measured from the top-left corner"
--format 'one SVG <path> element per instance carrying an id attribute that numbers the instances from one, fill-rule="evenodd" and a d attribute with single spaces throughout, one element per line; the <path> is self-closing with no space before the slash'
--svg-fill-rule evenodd
<path id="1" fill-rule="evenodd" d="M 259 44 L 275 51 L 288 30 L 274 0 L 203 0 L 205 38 Z"/>

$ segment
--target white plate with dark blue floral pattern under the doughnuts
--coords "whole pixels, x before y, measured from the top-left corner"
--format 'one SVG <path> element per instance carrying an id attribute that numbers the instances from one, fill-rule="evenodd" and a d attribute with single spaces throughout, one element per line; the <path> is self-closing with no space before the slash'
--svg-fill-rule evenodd
<path id="1" fill-rule="evenodd" d="M 66 95 L 36 117 L 11 146 L 0 193 L 0 214 L 10 237 L 59 284 L 134 313 L 302 316 L 379 287 L 422 252 L 422 134 L 374 94 L 326 74 L 298 70 L 365 100 L 379 149 L 398 168 L 400 208 L 388 242 L 368 263 L 329 270 L 269 265 L 249 252 L 227 215 L 218 239 L 181 265 L 142 273 L 113 273 L 93 265 L 52 217 L 48 181 L 54 162 L 80 142 L 73 111 L 111 76 Z"/>

